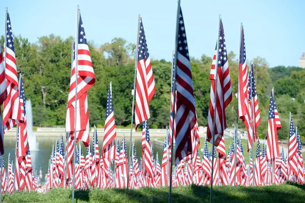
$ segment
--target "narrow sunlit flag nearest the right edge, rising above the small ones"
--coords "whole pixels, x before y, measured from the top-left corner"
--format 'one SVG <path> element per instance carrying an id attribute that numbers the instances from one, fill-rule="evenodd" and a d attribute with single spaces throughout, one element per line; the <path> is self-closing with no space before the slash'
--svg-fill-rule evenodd
<path id="1" fill-rule="evenodd" d="M 289 145 L 288 145 L 288 175 L 293 174 L 298 177 L 298 168 L 297 168 L 297 149 L 298 143 L 296 140 L 296 135 L 294 131 L 294 125 L 292 120 L 292 114 L 290 112 L 290 126 L 289 126 Z"/>

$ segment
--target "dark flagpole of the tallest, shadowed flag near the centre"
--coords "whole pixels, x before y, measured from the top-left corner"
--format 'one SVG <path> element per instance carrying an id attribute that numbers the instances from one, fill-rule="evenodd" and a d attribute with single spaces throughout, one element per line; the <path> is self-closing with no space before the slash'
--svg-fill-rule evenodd
<path id="1" fill-rule="evenodd" d="M 176 36 L 175 36 L 175 54 L 177 54 L 178 49 L 178 32 L 179 32 L 179 16 L 180 16 L 180 0 L 178 0 L 178 7 L 177 7 L 177 20 L 176 20 Z M 171 160 L 170 160 L 170 183 L 169 183 L 169 193 L 168 193 L 168 202 L 171 202 L 171 190 L 172 190 L 172 162 L 173 162 L 173 142 L 174 142 L 174 121 L 175 121 L 175 106 L 176 106 L 176 75 L 177 75 L 177 57 L 174 59 L 174 84 L 173 84 L 173 122 L 172 122 L 172 140 L 171 140 Z M 176 165 L 176 164 L 175 164 Z"/>

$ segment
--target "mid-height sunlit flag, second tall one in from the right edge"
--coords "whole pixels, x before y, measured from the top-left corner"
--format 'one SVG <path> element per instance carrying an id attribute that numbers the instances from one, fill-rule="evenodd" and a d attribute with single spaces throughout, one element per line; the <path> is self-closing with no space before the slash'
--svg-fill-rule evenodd
<path id="1" fill-rule="evenodd" d="M 268 132 L 267 132 L 267 160 L 280 157 L 278 130 L 282 127 L 279 113 L 277 110 L 275 99 L 273 98 L 273 90 L 270 95 L 269 115 L 268 115 Z"/>

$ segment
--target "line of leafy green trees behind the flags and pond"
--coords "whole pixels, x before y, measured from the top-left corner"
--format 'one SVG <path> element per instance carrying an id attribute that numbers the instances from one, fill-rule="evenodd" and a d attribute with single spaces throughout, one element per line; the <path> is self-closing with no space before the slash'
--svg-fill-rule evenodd
<path id="1" fill-rule="evenodd" d="M 2 36 L 1 43 L 4 38 Z M 17 71 L 23 75 L 26 99 L 31 99 L 35 126 L 65 126 L 67 98 L 71 77 L 72 37 L 62 39 L 49 35 L 30 43 L 21 36 L 14 37 Z M 134 83 L 134 53 L 136 45 L 122 38 L 96 45 L 89 42 L 90 55 L 96 75 L 96 83 L 88 91 L 90 125 L 103 127 L 107 91 L 112 81 L 113 109 L 115 123 L 120 127 L 130 127 Z M 171 54 L 171 53 L 169 53 Z M 207 125 L 209 105 L 212 56 L 203 54 L 200 59 L 191 57 L 194 95 L 198 124 Z M 293 114 L 294 124 L 305 138 L 305 69 L 277 66 L 270 68 L 265 59 L 253 60 L 256 88 L 259 99 L 261 124 L 258 135 L 267 134 L 269 96 L 275 89 L 282 129 L 279 139 L 287 139 L 289 111 Z M 237 92 L 238 58 L 232 51 L 228 53 L 228 62 L 233 93 Z M 165 128 L 169 123 L 171 62 L 151 59 L 156 94 L 150 101 L 150 128 Z M 227 126 L 236 123 L 236 97 L 226 108 Z M 239 126 L 245 128 L 239 120 Z"/>

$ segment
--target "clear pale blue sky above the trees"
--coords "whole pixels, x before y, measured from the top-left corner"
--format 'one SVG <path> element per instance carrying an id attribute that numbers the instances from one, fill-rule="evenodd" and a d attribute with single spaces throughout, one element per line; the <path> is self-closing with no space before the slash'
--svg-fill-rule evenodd
<path id="1" fill-rule="evenodd" d="M 76 5 L 80 5 L 88 40 L 96 45 L 121 37 L 136 43 L 142 15 L 150 57 L 171 60 L 177 1 L 28 0 L 0 4 L 5 21 L 9 9 L 13 33 L 37 42 L 49 34 L 75 36 Z M 181 1 L 191 56 L 214 54 L 218 16 L 222 15 L 227 49 L 238 53 L 240 22 L 245 27 L 247 59 L 264 57 L 270 67 L 298 66 L 305 52 L 305 1 Z M 1 24 L 1 23 L 0 23 Z M 4 27 L 3 27 L 4 33 Z M 2 35 L 2 33 L 0 32 Z"/>

